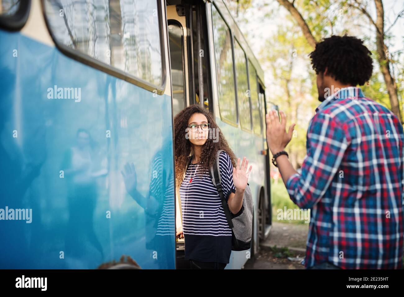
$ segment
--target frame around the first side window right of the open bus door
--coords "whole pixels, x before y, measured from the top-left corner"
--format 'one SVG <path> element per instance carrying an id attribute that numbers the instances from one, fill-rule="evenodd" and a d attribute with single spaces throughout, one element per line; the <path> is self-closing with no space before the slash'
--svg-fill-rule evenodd
<path id="1" fill-rule="evenodd" d="M 213 3 L 213 7 L 215 7 L 217 13 L 219 13 L 219 15 L 220 15 L 220 17 L 221 17 L 223 23 L 225 23 L 225 25 L 226 25 L 227 29 L 229 30 L 229 33 L 230 33 L 231 59 L 232 59 L 232 62 L 233 62 L 233 80 L 234 80 L 234 94 L 235 94 L 234 100 L 236 100 L 236 121 L 234 122 L 234 121 L 231 121 L 231 120 L 229 120 L 229 119 L 224 118 L 224 117 L 222 116 L 222 113 L 221 113 L 221 110 L 220 110 L 219 79 L 218 79 L 218 77 L 217 77 L 217 69 L 218 69 L 218 67 L 217 67 L 217 63 L 216 63 L 216 51 L 215 51 L 215 33 L 214 33 L 215 30 L 213 29 L 213 15 L 212 15 L 213 10 L 210 9 L 210 17 L 212 18 L 213 55 L 214 55 L 214 57 L 215 57 L 215 69 L 216 69 L 215 75 L 216 75 L 216 84 L 217 84 L 216 87 L 217 87 L 217 90 L 218 90 L 218 93 L 217 93 L 217 103 L 218 103 L 218 106 L 219 106 L 219 116 L 220 116 L 221 121 L 223 121 L 223 123 L 227 123 L 227 124 L 232 125 L 232 126 L 234 126 L 234 127 L 239 127 L 239 119 L 238 119 L 238 98 L 237 98 L 237 85 L 236 85 L 236 68 L 235 68 L 235 65 L 234 65 L 234 64 L 235 64 L 235 63 L 234 63 L 234 62 L 235 62 L 235 61 L 234 61 L 234 35 L 233 35 L 233 31 L 230 29 L 229 24 L 226 22 L 225 18 L 223 17 L 223 15 L 221 14 L 219 8 L 217 8 L 217 6 L 216 6 L 215 3 Z"/>

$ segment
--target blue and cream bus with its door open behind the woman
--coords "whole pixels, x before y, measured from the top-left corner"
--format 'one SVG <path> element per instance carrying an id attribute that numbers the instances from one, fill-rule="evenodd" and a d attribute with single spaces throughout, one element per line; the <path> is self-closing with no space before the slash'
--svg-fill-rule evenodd
<path id="1" fill-rule="evenodd" d="M 248 156 L 271 226 L 263 71 L 223 1 L 0 0 L 0 268 L 181 269 L 173 117 Z"/>

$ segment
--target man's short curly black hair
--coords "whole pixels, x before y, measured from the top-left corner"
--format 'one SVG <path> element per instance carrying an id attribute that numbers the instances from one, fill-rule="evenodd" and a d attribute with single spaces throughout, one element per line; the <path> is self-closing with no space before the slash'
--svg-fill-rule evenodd
<path id="1" fill-rule="evenodd" d="M 362 86 L 372 76 L 372 53 L 354 36 L 324 38 L 309 56 L 316 74 L 324 73 L 343 84 Z"/>

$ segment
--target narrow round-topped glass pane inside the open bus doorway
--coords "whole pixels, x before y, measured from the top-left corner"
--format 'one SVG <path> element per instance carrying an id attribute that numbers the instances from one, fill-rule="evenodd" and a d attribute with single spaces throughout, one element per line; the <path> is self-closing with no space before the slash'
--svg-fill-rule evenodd
<path id="1" fill-rule="evenodd" d="M 171 81 L 173 84 L 173 115 L 185 107 L 184 100 L 184 60 L 182 29 L 179 25 L 168 25 L 170 43 Z"/>

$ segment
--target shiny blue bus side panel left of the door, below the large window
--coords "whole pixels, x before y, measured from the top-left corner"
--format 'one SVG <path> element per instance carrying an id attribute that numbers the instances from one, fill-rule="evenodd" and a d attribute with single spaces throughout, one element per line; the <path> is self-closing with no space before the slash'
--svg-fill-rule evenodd
<path id="1" fill-rule="evenodd" d="M 171 98 L 0 40 L 0 268 L 175 268 Z"/>

